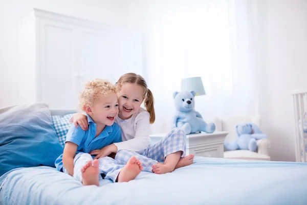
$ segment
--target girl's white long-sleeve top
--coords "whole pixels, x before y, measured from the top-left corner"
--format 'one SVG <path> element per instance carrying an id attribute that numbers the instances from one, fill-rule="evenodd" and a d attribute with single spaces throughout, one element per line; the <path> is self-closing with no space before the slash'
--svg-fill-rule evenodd
<path id="1" fill-rule="evenodd" d="M 140 108 L 138 112 L 133 114 L 129 119 L 122 120 L 118 116 L 115 122 L 122 130 L 122 142 L 114 145 L 119 150 L 143 151 L 150 144 L 150 124 L 149 113 Z"/>

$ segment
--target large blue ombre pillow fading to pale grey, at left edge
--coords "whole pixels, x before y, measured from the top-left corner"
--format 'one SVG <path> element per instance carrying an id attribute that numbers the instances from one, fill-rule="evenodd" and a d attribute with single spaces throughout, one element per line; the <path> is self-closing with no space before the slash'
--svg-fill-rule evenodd
<path id="1" fill-rule="evenodd" d="M 0 109 L 0 176 L 21 167 L 55 167 L 63 147 L 46 103 Z"/>

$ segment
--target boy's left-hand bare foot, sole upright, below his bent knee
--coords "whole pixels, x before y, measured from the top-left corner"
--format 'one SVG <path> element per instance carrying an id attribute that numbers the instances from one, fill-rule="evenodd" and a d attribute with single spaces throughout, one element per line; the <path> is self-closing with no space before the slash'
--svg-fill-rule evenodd
<path id="1" fill-rule="evenodd" d="M 99 186 L 99 161 L 98 159 L 91 160 L 81 169 L 82 184 Z"/>

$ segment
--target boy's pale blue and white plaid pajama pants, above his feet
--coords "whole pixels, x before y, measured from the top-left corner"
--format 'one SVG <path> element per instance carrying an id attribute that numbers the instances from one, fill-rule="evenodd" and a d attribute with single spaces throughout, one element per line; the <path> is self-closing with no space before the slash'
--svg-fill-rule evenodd
<path id="1" fill-rule="evenodd" d="M 74 178 L 80 182 L 82 182 L 81 168 L 86 165 L 87 162 L 93 161 L 94 159 L 89 153 L 78 153 L 74 158 Z M 113 182 L 116 181 L 116 178 L 120 172 L 120 170 L 125 165 L 119 165 L 117 161 L 115 161 L 111 157 L 101 157 L 98 159 L 99 161 L 99 180 L 101 179 L 111 179 Z M 63 167 L 63 172 L 68 173 L 67 170 Z"/>

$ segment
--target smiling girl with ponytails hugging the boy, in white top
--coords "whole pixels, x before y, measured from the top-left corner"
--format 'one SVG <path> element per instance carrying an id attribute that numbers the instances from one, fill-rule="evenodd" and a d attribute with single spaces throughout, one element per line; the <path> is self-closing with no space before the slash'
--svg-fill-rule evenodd
<path id="1" fill-rule="evenodd" d="M 117 153 L 115 159 L 122 164 L 131 156 L 136 156 L 143 167 L 151 167 L 152 172 L 157 174 L 191 165 L 194 156 L 185 156 L 186 135 L 178 128 L 171 130 L 155 145 L 149 145 L 149 125 L 155 122 L 155 109 L 152 93 L 144 78 L 135 73 L 126 73 L 119 78 L 116 85 L 120 92 L 119 114 L 115 122 L 122 129 L 123 141 L 94 150 L 90 154 L 100 158 L 114 152 Z M 140 107 L 143 101 L 146 110 Z M 73 121 L 76 127 L 79 124 L 83 130 L 87 129 L 87 117 L 84 114 L 76 113 L 70 121 Z"/>

